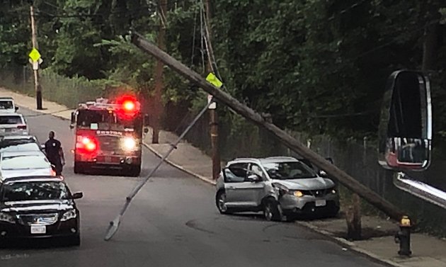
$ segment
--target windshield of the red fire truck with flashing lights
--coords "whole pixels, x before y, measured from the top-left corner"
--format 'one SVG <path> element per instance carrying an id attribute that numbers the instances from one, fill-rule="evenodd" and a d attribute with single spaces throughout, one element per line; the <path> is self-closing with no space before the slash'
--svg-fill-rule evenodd
<path id="1" fill-rule="evenodd" d="M 76 124 L 78 127 L 94 128 L 94 130 L 123 131 L 133 129 L 136 132 L 142 131 L 140 115 L 135 115 L 135 118 L 121 119 L 115 112 L 108 110 L 79 110 Z"/>

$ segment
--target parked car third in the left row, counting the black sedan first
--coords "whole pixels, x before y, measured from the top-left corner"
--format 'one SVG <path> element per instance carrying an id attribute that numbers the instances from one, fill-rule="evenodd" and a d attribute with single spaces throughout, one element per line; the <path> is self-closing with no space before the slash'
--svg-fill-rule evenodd
<path id="1" fill-rule="evenodd" d="M 40 151 L 37 137 L 33 135 L 9 135 L 0 137 L 0 152 Z"/>

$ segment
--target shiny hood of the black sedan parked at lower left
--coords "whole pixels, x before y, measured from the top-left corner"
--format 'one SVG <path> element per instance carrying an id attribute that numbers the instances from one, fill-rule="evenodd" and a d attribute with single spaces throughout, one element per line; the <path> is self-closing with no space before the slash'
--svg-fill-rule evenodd
<path id="1" fill-rule="evenodd" d="M 1 203 L 1 212 L 61 211 L 74 208 L 72 200 L 26 200 Z"/>

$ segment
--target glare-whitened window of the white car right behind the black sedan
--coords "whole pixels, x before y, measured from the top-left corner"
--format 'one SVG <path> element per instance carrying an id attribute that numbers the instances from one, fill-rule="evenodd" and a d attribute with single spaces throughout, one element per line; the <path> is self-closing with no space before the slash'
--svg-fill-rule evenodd
<path id="1" fill-rule="evenodd" d="M 2 170 L 45 169 L 50 166 L 50 161 L 42 156 L 15 156 L 1 159 Z"/>

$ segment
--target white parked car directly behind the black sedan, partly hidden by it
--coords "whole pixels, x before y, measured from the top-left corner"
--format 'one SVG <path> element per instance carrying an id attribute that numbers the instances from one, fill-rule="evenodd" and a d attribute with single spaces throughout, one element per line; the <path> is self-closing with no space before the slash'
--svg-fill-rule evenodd
<path id="1" fill-rule="evenodd" d="M 40 151 L 2 152 L 0 177 L 55 176 L 55 166 Z"/>

